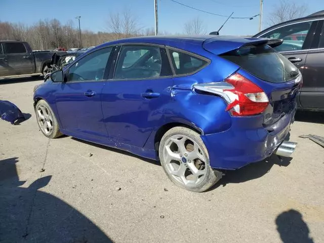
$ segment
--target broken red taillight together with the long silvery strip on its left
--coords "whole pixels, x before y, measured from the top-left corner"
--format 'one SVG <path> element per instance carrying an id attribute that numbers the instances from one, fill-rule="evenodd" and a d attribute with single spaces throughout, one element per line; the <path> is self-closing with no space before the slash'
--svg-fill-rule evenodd
<path id="1" fill-rule="evenodd" d="M 228 104 L 226 110 L 232 115 L 257 115 L 269 104 L 264 91 L 239 73 L 224 82 L 194 85 L 194 89 L 221 96 Z"/>

